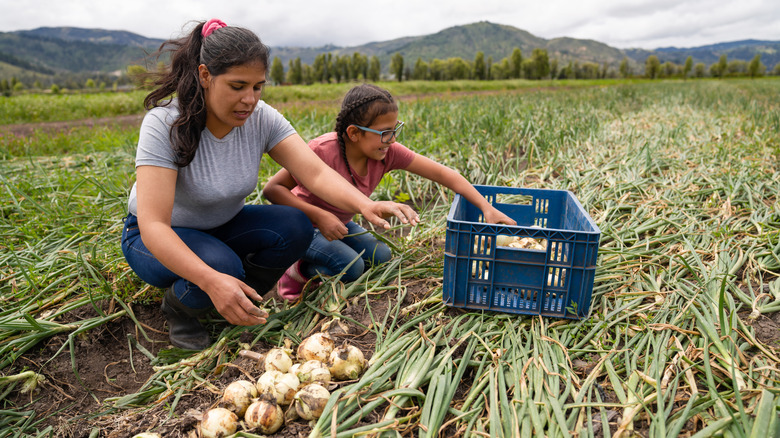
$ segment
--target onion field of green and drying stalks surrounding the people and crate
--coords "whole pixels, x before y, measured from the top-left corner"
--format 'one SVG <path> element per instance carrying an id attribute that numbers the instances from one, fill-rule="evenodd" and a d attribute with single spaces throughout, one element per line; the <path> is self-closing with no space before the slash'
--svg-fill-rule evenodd
<path id="1" fill-rule="evenodd" d="M 275 436 L 778 436 L 780 81 L 452 85 L 391 88 L 407 96 L 401 141 L 475 184 L 572 191 L 601 229 L 587 318 L 444 305 L 452 193 L 394 173 L 376 196 L 408 197 L 424 222 L 385 235 L 393 261 L 352 284 L 326 279 L 303 303 L 265 302 L 261 327 L 214 315 L 219 340 L 199 354 L 169 349 L 162 291 L 119 248 L 136 131 L 4 139 L 0 437 L 186 436 L 231 379 L 252 374 L 239 349 L 295 344 L 334 321 L 372 366 L 319 421 Z M 296 101 L 346 90 L 320 88 L 268 100 L 311 138 L 336 105 Z M 112 114 L 139 110 L 127 97 L 136 103 Z M 277 169 L 263 163 L 261 182 Z M 248 202 L 264 202 L 259 189 Z M 90 367 L 104 341 L 113 357 Z"/>

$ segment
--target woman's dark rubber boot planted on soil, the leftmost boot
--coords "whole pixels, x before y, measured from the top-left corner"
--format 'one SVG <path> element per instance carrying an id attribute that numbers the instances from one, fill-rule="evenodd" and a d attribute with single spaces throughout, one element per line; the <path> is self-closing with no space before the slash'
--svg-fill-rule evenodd
<path id="1" fill-rule="evenodd" d="M 211 309 L 192 309 L 185 306 L 173 293 L 173 286 L 165 290 L 162 311 L 168 321 L 168 337 L 174 347 L 203 350 L 211 345 L 209 332 L 198 321 Z"/>

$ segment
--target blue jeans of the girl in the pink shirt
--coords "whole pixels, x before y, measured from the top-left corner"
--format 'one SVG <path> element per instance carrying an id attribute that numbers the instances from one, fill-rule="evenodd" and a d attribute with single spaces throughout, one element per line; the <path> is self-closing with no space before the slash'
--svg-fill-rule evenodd
<path id="1" fill-rule="evenodd" d="M 346 225 L 349 236 L 341 240 L 328 241 L 318 229 L 314 230 L 314 240 L 301 263 L 301 274 L 311 278 L 344 272 L 341 281 L 348 283 L 363 275 L 366 267 L 390 260 L 393 254 L 387 245 L 353 221 Z"/>

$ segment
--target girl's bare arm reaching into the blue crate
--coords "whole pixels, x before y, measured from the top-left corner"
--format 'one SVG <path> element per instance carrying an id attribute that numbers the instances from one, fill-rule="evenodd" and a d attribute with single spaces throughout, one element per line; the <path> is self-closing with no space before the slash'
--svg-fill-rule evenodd
<path id="1" fill-rule="evenodd" d="M 515 220 L 493 207 L 493 205 L 455 169 L 437 163 L 428 157 L 415 154 L 414 159 L 406 167 L 406 170 L 420 175 L 423 178 L 428 178 L 431 181 L 437 182 L 455 193 L 460 194 L 482 211 L 482 214 L 485 216 L 485 222 L 487 223 L 517 225 Z"/>

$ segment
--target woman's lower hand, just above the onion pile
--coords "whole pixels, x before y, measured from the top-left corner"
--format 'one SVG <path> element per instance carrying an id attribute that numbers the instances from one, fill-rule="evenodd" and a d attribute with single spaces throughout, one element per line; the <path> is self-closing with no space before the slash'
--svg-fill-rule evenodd
<path id="1" fill-rule="evenodd" d="M 203 290 L 208 293 L 217 312 L 231 324 L 265 324 L 268 318 L 268 312 L 252 302 L 252 300 L 261 301 L 263 297 L 233 276 L 220 273 L 208 285 L 208 289 Z"/>

